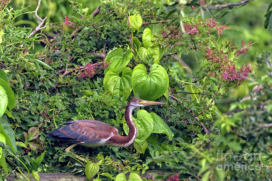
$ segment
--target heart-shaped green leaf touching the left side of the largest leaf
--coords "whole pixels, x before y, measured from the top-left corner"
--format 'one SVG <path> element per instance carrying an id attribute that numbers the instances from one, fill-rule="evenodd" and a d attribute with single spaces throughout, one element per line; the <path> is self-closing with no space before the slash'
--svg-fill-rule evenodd
<path id="1" fill-rule="evenodd" d="M 132 71 L 129 67 L 124 68 L 121 77 L 116 69 L 109 70 L 103 81 L 105 90 L 112 96 L 125 96 L 127 99 L 132 90 L 131 74 Z"/>

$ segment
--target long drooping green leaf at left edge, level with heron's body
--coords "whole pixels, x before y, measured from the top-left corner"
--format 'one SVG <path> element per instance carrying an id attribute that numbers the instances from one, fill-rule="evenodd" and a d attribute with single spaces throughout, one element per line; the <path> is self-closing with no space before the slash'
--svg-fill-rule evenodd
<path id="1" fill-rule="evenodd" d="M 16 141 L 15 141 L 15 133 L 11 129 L 10 125 L 8 124 L 8 121 L 1 118 L 1 124 L 0 124 L 0 133 L 2 133 L 5 136 L 6 143 L 8 146 L 12 149 L 14 153 L 17 151 Z"/>

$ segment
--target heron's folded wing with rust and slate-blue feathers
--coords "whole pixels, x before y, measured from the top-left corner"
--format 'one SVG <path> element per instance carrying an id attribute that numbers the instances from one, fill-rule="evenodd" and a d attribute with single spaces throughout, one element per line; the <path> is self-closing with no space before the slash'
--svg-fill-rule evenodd
<path id="1" fill-rule="evenodd" d="M 96 143 L 118 134 L 116 128 L 96 120 L 77 120 L 48 133 L 47 138 L 79 143 Z"/>

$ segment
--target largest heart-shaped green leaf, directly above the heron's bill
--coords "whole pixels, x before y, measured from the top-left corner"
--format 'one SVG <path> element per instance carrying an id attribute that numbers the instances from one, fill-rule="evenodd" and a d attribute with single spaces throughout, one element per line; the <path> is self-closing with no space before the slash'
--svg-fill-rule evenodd
<path id="1" fill-rule="evenodd" d="M 147 74 L 145 65 L 138 64 L 132 71 L 131 83 L 134 96 L 153 101 L 164 95 L 169 85 L 169 78 L 161 65 L 151 65 L 150 72 Z"/>

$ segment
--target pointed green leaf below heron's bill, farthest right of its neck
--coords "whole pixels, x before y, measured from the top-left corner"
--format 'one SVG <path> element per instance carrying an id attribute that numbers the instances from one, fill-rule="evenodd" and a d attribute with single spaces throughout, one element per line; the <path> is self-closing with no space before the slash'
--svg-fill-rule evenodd
<path id="1" fill-rule="evenodd" d="M 156 113 L 151 112 L 149 114 L 153 119 L 154 125 L 152 133 L 165 133 L 169 137 L 169 140 L 171 141 L 171 139 L 174 136 L 174 133 L 171 131 L 166 122 L 164 122 L 164 120 L 161 119 L 160 116 L 158 116 Z"/>

